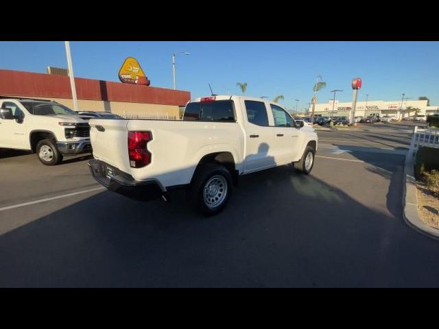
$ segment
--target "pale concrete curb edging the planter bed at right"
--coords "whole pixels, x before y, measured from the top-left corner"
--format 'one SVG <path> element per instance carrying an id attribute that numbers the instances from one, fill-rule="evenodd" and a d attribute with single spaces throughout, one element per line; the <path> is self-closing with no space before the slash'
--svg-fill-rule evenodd
<path id="1" fill-rule="evenodd" d="M 428 226 L 419 217 L 413 162 L 405 163 L 403 180 L 403 217 L 405 223 L 414 230 L 439 240 L 439 230 Z"/>

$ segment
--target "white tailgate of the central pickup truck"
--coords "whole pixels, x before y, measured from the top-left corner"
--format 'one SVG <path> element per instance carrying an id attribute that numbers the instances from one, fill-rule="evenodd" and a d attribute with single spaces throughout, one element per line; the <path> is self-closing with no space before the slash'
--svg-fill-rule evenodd
<path id="1" fill-rule="evenodd" d="M 89 124 L 93 156 L 121 171 L 129 172 L 128 120 L 91 119 Z"/>

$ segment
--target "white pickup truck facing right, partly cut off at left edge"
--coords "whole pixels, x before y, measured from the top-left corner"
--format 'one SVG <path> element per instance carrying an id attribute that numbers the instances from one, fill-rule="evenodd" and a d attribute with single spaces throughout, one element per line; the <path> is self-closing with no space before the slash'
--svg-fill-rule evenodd
<path id="1" fill-rule="evenodd" d="M 52 166 L 91 152 L 88 119 L 55 101 L 0 98 L 0 147 L 32 150 Z"/>

